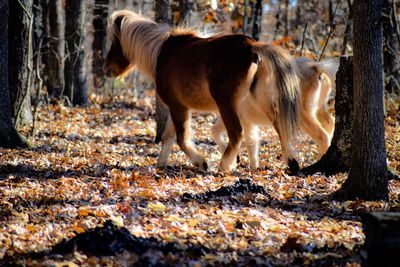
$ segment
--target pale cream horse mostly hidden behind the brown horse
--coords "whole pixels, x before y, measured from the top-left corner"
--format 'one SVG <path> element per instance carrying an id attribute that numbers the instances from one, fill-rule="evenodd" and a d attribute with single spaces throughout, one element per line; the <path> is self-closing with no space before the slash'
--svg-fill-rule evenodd
<path id="1" fill-rule="evenodd" d="M 300 72 L 300 129 L 308 134 L 318 145 L 322 156 L 329 147 L 334 130 L 334 117 L 328 111 L 328 102 L 335 86 L 335 74 L 338 61 L 328 59 L 315 62 L 308 58 L 296 58 L 295 62 Z M 270 117 L 269 106 L 260 90 L 260 95 L 250 94 L 242 101 L 239 118 L 243 127 L 244 139 L 249 153 L 250 165 L 258 167 L 258 126 L 271 125 L 274 118 Z M 219 150 L 223 152 L 226 144 L 223 139 L 224 123 L 218 118 L 212 127 L 211 134 Z M 285 140 L 281 140 L 282 156 L 287 159 L 292 151 L 287 150 Z"/>

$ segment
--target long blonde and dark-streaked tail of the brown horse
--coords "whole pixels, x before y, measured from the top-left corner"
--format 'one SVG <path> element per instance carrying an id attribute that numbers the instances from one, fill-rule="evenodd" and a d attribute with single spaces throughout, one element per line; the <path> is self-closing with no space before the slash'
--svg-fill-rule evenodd
<path id="1" fill-rule="evenodd" d="M 276 82 L 276 86 L 272 86 L 276 123 L 279 125 L 281 138 L 290 143 L 298 135 L 300 124 L 300 79 L 297 65 L 292 56 L 278 46 L 255 46 L 253 52 L 261 55 L 260 64 L 264 61 L 267 71 L 272 69 Z"/>

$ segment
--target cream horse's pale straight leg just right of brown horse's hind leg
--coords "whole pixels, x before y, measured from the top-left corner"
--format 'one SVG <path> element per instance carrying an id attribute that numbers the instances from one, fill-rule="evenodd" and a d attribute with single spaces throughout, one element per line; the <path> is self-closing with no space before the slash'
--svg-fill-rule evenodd
<path id="1" fill-rule="evenodd" d="M 258 147 L 259 147 L 259 127 L 243 123 L 243 134 L 246 142 L 247 153 L 249 154 L 250 167 L 258 168 Z"/>

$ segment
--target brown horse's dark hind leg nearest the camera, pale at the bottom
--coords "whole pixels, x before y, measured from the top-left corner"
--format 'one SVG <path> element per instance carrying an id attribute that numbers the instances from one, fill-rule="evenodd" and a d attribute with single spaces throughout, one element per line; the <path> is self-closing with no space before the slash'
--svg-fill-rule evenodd
<path id="1" fill-rule="evenodd" d="M 229 143 L 220 162 L 221 171 L 231 171 L 236 167 L 235 158 L 239 154 L 242 142 L 242 126 L 239 117 L 232 105 L 220 105 L 221 118 L 228 133 Z"/>

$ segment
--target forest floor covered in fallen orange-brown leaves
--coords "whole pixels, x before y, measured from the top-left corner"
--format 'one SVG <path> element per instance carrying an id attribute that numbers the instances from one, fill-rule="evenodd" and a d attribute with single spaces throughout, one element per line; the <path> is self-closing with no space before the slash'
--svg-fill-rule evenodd
<path id="1" fill-rule="evenodd" d="M 177 146 L 171 167 L 158 170 L 145 92 L 44 106 L 35 148 L 0 150 L 1 266 L 359 266 L 359 215 L 400 211 L 399 181 L 389 182 L 389 202 L 338 202 L 327 196 L 347 174 L 289 176 L 272 129 L 262 130 L 259 170 L 242 147 L 237 170 L 219 173 L 210 115 L 193 125 L 212 170 L 192 167 Z M 400 122 L 385 126 L 399 174 Z M 302 166 L 316 160 L 309 139 L 296 149 Z"/>

